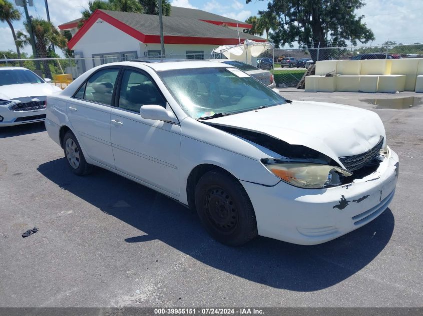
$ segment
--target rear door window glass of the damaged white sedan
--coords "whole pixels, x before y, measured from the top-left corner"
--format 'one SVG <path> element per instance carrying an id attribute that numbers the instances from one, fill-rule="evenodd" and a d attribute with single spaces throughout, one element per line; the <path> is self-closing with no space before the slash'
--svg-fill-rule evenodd
<path id="1" fill-rule="evenodd" d="M 108 68 L 93 74 L 87 81 L 84 100 L 112 105 L 113 87 L 118 73 L 118 68 Z"/>

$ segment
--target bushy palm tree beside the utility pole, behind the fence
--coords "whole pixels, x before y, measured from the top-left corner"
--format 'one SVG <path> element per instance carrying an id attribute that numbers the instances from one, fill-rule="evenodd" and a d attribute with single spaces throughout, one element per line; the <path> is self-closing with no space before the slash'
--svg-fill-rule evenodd
<path id="1" fill-rule="evenodd" d="M 24 22 L 25 29 L 27 34 L 23 31 L 18 31 L 17 33 L 17 42 L 20 47 L 26 45 L 31 45 L 31 37 L 29 34 L 29 25 L 28 22 Z M 41 58 L 47 58 L 49 55 L 49 46 L 52 44 L 58 46 L 59 48 L 65 48 L 66 43 L 68 42 L 66 37 L 53 25 L 52 22 L 34 18 L 32 19 L 32 28 L 34 31 L 35 37 L 35 46 L 37 49 L 37 54 Z M 49 68 L 48 60 L 43 60 L 43 70 L 45 78 L 52 78 L 52 73 Z"/>

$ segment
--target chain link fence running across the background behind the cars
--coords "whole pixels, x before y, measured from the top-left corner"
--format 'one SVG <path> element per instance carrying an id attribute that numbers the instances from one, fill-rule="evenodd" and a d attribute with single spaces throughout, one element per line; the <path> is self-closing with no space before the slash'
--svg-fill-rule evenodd
<path id="1" fill-rule="evenodd" d="M 258 58 L 273 58 L 274 79 L 278 87 L 295 87 L 303 77 L 307 67 L 319 60 L 348 60 L 348 59 L 385 59 L 385 58 L 423 58 L 423 43 L 409 45 L 389 44 L 376 46 L 349 46 L 349 47 L 313 47 L 296 49 L 269 49 Z M 225 58 L 218 53 L 186 53 L 168 54 L 161 56 L 160 53 L 138 59 L 220 59 Z M 285 62 L 284 59 L 294 60 Z M 86 70 L 94 66 L 110 62 L 131 60 L 116 56 L 103 56 L 95 58 L 49 58 L 49 59 L 0 59 L 0 67 L 22 66 L 26 67 L 43 78 L 51 78 L 53 82 L 66 87 L 72 79 L 77 78 Z M 68 76 L 64 76 L 67 74 Z"/>

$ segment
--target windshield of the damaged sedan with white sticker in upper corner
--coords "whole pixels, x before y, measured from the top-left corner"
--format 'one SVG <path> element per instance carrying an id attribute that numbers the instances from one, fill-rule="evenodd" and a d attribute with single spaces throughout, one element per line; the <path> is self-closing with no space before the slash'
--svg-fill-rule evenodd
<path id="1" fill-rule="evenodd" d="M 157 74 L 186 113 L 196 119 L 287 103 L 236 68 L 176 69 Z"/>

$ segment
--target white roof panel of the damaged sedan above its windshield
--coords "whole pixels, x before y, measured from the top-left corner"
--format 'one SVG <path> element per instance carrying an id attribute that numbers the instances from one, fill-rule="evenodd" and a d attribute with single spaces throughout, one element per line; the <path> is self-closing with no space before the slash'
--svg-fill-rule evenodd
<path id="1" fill-rule="evenodd" d="M 227 60 L 227 59 L 225 59 Z M 130 61 L 114 62 L 111 64 L 137 67 L 137 64 L 146 65 L 156 71 L 160 70 L 174 70 L 174 69 L 189 69 L 189 68 L 208 68 L 208 67 L 232 67 L 231 65 L 221 65 L 208 60 L 193 60 L 193 59 L 135 59 Z M 111 65 L 108 64 L 108 65 Z M 141 68 L 141 67 L 139 67 Z"/>

